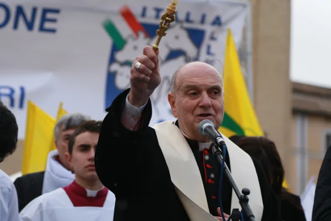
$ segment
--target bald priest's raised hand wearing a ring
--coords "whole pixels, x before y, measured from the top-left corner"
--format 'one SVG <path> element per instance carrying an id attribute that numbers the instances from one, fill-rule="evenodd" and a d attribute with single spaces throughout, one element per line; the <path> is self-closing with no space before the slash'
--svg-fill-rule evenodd
<path id="1" fill-rule="evenodd" d="M 160 85 L 159 51 L 145 46 L 143 54 L 136 57 L 131 68 L 131 91 L 129 102 L 139 108 L 143 106 L 153 91 Z"/>

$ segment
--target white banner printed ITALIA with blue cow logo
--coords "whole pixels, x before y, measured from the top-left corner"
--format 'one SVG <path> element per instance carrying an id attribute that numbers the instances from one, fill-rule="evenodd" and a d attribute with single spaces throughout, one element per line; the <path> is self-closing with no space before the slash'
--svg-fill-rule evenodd
<path id="1" fill-rule="evenodd" d="M 62 101 L 66 111 L 102 120 L 130 85 L 132 61 L 156 41 L 168 1 L 0 0 L 0 100 L 16 115 L 19 138 L 28 100 L 52 116 Z M 179 1 L 160 43 L 162 84 L 152 96 L 151 125 L 173 118 L 166 94 L 187 59 L 213 58 L 223 69 L 227 29 L 239 45 L 247 8 L 231 0 Z"/>

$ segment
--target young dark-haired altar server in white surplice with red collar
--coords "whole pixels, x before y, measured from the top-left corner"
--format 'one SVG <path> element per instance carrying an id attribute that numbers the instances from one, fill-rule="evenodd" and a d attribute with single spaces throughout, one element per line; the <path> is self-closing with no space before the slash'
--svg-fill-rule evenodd
<path id="1" fill-rule="evenodd" d="M 94 165 L 100 121 L 80 125 L 69 139 L 66 161 L 75 180 L 31 201 L 20 213 L 23 221 L 112 221 L 115 195 L 104 187 Z"/>

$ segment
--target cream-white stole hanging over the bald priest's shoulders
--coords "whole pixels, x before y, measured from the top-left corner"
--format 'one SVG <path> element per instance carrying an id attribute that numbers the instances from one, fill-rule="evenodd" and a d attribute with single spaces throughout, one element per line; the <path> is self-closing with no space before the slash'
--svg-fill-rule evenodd
<path id="1" fill-rule="evenodd" d="M 159 146 L 165 156 L 171 181 L 191 221 L 215 221 L 209 214 L 206 194 L 199 167 L 191 147 L 174 121 L 164 121 L 153 127 Z M 238 188 L 249 188 L 249 205 L 255 220 L 261 221 L 263 201 L 258 175 L 251 157 L 222 134 L 228 149 L 231 174 Z M 227 179 L 226 177 L 224 179 Z M 231 211 L 241 210 L 239 200 L 232 190 Z"/>

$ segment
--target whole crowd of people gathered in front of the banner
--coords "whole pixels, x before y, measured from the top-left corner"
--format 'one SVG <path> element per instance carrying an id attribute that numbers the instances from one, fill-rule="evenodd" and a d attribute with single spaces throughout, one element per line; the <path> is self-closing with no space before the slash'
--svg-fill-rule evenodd
<path id="1" fill-rule="evenodd" d="M 203 119 L 216 129 L 222 124 L 222 74 L 204 62 L 180 67 L 168 95 L 177 120 L 150 127 L 150 95 L 161 82 L 158 65 L 158 53 L 146 46 L 132 64 L 131 87 L 114 99 L 103 121 L 63 116 L 45 171 L 12 183 L 0 170 L 1 221 L 229 220 L 238 200 L 213 156 L 213 143 L 198 131 Z M 0 161 L 14 152 L 17 137 L 15 116 L 0 103 Z M 224 140 L 224 160 L 238 186 L 250 188 L 256 220 L 306 220 L 300 198 L 282 187 L 285 171 L 273 141 Z M 327 219 L 319 215 L 314 221 Z"/>

